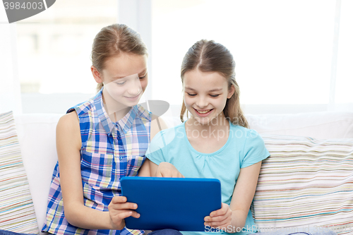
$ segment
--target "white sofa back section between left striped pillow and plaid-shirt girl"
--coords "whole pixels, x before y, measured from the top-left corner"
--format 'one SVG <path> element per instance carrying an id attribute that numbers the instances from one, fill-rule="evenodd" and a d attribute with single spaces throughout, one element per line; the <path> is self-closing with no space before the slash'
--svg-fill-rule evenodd
<path id="1" fill-rule="evenodd" d="M 40 229 L 46 219 L 50 183 L 58 160 L 55 130 L 61 116 L 63 114 L 22 114 L 15 117 L 23 164 Z"/>

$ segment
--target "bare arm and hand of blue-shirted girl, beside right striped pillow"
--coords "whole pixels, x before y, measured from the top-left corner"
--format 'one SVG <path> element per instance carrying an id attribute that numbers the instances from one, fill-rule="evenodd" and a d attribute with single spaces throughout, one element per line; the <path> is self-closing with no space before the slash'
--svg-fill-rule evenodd
<path id="1" fill-rule="evenodd" d="M 215 210 L 205 217 L 205 225 L 214 228 L 228 228 L 230 225 L 233 231 L 227 231 L 229 233 L 235 233 L 237 228 L 244 227 L 255 195 L 260 169 L 261 162 L 258 162 L 240 170 L 230 206 L 222 203 L 220 210 Z"/>

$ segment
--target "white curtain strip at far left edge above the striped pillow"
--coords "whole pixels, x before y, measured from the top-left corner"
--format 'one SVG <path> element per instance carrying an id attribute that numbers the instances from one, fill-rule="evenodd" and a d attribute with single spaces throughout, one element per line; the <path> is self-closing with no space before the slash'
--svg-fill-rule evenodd
<path id="1" fill-rule="evenodd" d="M 0 4 L 0 113 L 22 113 L 16 37 L 16 23 L 8 23 L 4 5 Z"/>

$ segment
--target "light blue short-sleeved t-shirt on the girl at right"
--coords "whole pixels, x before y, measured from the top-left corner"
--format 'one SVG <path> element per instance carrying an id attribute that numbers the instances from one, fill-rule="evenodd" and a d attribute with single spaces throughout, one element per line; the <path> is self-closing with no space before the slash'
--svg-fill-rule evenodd
<path id="1" fill-rule="evenodd" d="M 172 163 L 186 178 L 213 178 L 221 181 L 222 203 L 230 205 L 235 183 L 241 168 L 262 161 L 270 155 L 265 148 L 261 136 L 253 130 L 236 126 L 230 123 L 229 138 L 220 150 L 213 153 L 196 151 L 190 144 L 185 131 L 185 122 L 160 131 L 152 139 L 146 152 L 146 157 L 155 164 L 161 162 Z M 191 133 L 197 137 L 205 133 Z M 208 132 L 215 137 L 225 133 Z M 254 228 L 253 217 L 249 210 L 243 232 L 238 234 L 250 234 Z M 244 231 L 249 228 L 249 231 Z M 184 232 L 182 234 L 227 234 L 225 232 L 211 233 L 215 231 L 205 227 L 205 232 Z"/>

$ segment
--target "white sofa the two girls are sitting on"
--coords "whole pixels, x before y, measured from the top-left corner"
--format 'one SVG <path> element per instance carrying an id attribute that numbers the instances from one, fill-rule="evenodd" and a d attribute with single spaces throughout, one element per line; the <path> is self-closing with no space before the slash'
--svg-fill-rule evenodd
<path id="1" fill-rule="evenodd" d="M 61 114 L 22 114 L 15 116 L 23 164 L 28 176 L 30 193 L 40 229 L 44 223 L 49 184 L 57 161 L 55 129 L 60 116 Z M 179 115 L 167 112 L 164 119 L 169 126 L 174 126 L 180 122 L 177 116 Z M 297 135 L 318 139 L 351 138 L 353 140 L 353 112 L 283 115 L 249 114 L 246 117 L 249 120 L 250 127 L 261 135 Z M 287 164 L 290 164 L 290 162 Z M 266 164 L 263 164 L 263 166 L 266 166 Z M 349 181 L 353 181 L 352 177 Z M 350 199 L 353 200 L 353 198 Z M 352 201 L 350 204 L 352 205 Z M 261 220 L 258 222 L 263 223 Z M 275 224 L 274 226 L 282 225 Z"/>

